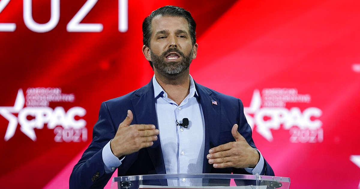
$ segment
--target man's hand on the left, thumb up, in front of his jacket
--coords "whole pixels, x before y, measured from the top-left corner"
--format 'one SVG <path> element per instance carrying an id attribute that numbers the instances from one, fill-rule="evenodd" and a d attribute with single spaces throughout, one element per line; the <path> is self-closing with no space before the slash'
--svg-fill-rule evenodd
<path id="1" fill-rule="evenodd" d="M 125 120 L 120 123 L 114 139 L 110 142 L 110 148 L 116 157 L 150 147 L 158 138 L 159 130 L 155 129 L 155 125 L 130 125 L 132 118 L 132 112 L 128 110 Z"/>

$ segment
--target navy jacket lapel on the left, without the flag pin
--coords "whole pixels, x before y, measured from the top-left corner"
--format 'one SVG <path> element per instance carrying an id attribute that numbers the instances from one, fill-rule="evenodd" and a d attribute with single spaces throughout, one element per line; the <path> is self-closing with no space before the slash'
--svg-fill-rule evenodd
<path id="1" fill-rule="evenodd" d="M 131 99 L 132 106 L 134 107 L 135 122 L 138 124 L 153 124 L 156 129 L 159 129 L 155 109 L 153 82 L 150 81 L 149 84 L 140 88 L 136 91 L 135 95 L 136 97 Z M 160 140 L 154 141 L 154 144 L 148 147 L 147 150 L 157 174 L 166 174 Z"/>

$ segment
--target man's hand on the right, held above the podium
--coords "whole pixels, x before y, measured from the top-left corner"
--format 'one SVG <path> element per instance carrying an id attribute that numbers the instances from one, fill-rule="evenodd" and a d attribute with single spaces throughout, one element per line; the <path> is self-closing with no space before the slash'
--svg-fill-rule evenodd
<path id="1" fill-rule="evenodd" d="M 209 150 L 206 158 L 215 168 L 254 168 L 259 162 L 260 155 L 251 147 L 245 138 L 238 132 L 238 125 L 231 129 L 235 142 L 219 145 Z"/>

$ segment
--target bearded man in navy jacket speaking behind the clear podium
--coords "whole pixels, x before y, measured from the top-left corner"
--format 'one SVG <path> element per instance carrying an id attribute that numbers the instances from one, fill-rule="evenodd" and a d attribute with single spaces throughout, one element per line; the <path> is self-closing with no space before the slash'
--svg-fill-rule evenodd
<path id="1" fill-rule="evenodd" d="M 154 77 L 102 103 L 93 141 L 73 169 L 70 188 L 103 188 L 116 168 L 118 176 L 274 175 L 255 148 L 240 99 L 201 86 L 189 75 L 197 56 L 195 27 L 191 14 L 176 6 L 144 19 L 143 54 Z"/>

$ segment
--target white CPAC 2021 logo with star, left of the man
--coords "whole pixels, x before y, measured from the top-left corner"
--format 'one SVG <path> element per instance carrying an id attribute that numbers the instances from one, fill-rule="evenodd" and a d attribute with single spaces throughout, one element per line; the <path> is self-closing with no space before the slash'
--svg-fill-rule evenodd
<path id="1" fill-rule="evenodd" d="M 72 95 L 72 96 L 71 96 Z M 27 105 L 48 105 L 49 102 L 71 102 L 73 94 L 62 94 L 59 88 L 29 88 L 27 90 Z M 70 98 L 69 98 L 70 96 Z M 83 117 L 86 110 L 82 107 L 72 107 L 65 112 L 63 107 L 54 109 L 48 106 L 27 106 L 22 89 L 18 94 L 13 107 L 0 107 L 0 114 L 9 121 L 4 140 L 11 139 L 16 131 L 18 123 L 20 130 L 31 140 L 36 141 L 35 129 L 43 129 L 47 124 L 48 129 L 54 129 L 56 134 L 54 140 L 62 141 L 82 141 L 87 140 L 86 121 L 76 119 L 76 116 Z M 16 117 L 14 113 L 18 113 Z M 31 118 L 29 120 L 28 118 Z M 61 127 L 59 127 L 61 126 Z"/>

